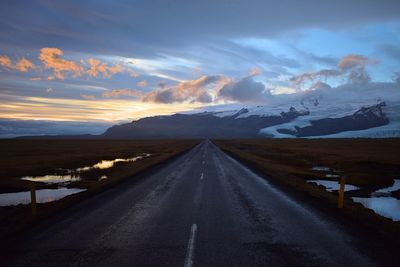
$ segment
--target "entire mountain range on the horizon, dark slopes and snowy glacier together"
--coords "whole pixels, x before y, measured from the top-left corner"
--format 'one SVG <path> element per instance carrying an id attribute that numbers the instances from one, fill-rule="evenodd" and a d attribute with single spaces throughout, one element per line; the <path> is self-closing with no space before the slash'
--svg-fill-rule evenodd
<path id="1" fill-rule="evenodd" d="M 385 96 L 385 97 L 382 97 Z M 155 116 L 109 128 L 104 138 L 400 137 L 400 91 L 385 84 L 322 86 L 263 105 Z"/>

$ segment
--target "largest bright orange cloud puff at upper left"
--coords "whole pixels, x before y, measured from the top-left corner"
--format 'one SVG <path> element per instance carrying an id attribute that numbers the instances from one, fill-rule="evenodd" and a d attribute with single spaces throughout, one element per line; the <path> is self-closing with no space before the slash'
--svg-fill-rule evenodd
<path id="1" fill-rule="evenodd" d="M 60 80 L 65 78 L 65 72 L 72 72 L 75 77 L 81 76 L 83 68 L 74 61 L 61 58 L 63 51 L 58 48 L 40 49 L 39 59 L 46 69 L 52 69 L 54 76 Z"/>

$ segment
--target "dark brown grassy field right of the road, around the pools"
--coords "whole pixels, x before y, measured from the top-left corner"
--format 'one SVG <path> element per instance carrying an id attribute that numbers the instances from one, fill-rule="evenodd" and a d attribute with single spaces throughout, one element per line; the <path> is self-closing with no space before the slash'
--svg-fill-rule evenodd
<path id="1" fill-rule="evenodd" d="M 346 181 L 360 186 L 364 194 L 389 186 L 394 178 L 400 177 L 400 139 L 216 140 L 214 143 L 263 173 L 277 186 L 308 200 L 321 210 L 399 242 L 393 237 L 400 236 L 400 222 L 376 215 L 348 197 L 345 208 L 338 210 L 336 192 L 327 192 L 306 180 L 323 178 L 322 173 L 310 170 L 320 165 L 342 171 Z"/>

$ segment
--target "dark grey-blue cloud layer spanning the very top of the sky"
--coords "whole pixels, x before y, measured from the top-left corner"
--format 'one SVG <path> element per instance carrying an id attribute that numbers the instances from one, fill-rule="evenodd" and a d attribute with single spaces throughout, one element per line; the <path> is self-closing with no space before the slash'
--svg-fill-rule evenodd
<path id="1" fill-rule="evenodd" d="M 304 27 L 397 19 L 397 0 L 14 1 L 0 4 L 0 42 L 21 47 L 157 56 L 177 46 L 272 37 Z"/>

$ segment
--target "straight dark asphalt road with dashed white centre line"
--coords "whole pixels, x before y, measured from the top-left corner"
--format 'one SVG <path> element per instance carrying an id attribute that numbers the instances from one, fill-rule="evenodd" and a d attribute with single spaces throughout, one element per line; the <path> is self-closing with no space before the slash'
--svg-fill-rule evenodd
<path id="1" fill-rule="evenodd" d="M 357 239 L 209 141 L 38 227 L 10 266 L 370 266 Z"/>

